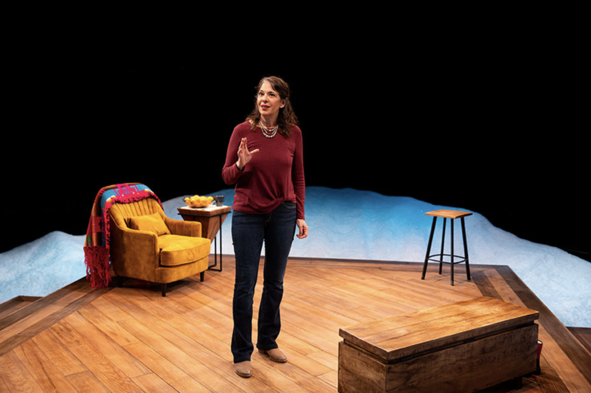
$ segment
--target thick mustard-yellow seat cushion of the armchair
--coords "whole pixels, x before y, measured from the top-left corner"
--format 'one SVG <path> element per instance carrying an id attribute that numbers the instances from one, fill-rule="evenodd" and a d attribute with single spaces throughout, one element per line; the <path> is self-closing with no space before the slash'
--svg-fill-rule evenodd
<path id="1" fill-rule="evenodd" d="M 211 242 L 205 238 L 180 235 L 158 236 L 161 266 L 178 266 L 197 261 L 209 255 Z"/>

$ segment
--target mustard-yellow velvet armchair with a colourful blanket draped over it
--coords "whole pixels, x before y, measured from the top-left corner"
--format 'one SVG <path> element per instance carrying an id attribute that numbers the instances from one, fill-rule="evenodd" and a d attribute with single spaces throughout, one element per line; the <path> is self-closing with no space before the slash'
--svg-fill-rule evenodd
<path id="1" fill-rule="evenodd" d="M 158 282 L 163 296 L 168 282 L 197 273 L 204 280 L 211 241 L 201 237 L 201 223 L 165 216 L 152 198 L 115 203 L 109 215 L 111 264 L 116 275 Z"/>

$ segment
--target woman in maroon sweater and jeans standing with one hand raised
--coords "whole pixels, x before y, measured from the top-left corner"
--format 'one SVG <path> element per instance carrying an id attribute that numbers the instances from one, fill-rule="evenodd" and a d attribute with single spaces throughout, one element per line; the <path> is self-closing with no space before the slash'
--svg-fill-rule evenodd
<path id="1" fill-rule="evenodd" d="M 256 347 L 269 359 L 285 363 L 278 348 L 283 276 L 298 228 L 306 238 L 306 183 L 301 131 L 290 103 L 290 90 L 279 77 L 264 77 L 256 89 L 255 108 L 234 128 L 222 177 L 236 184 L 232 241 L 236 256 L 232 354 L 236 373 L 252 375 L 252 298 L 265 243 L 264 284 Z"/>

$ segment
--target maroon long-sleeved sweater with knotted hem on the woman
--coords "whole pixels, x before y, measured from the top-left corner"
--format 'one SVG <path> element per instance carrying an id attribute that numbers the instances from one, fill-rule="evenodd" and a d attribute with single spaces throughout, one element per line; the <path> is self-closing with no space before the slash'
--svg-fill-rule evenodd
<path id="1" fill-rule="evenodd" d="M 241 171 L 236 167 L 236 161 L 242 138 L 247 139 L 249 151 L 259 149 L 259 152 Z M 282 202 L 295 202 L 297 218 L 304 219 L 306 181 L 298 126 L 291 127 L 289 138 L 279 133 L 274 138 L 267 138 L 258 126 L 251 131 L 248 121 L 237 125 L 230 138 L 222 177 L 226 184 L 236 183 L 234 210 L 265 214 Z"/>

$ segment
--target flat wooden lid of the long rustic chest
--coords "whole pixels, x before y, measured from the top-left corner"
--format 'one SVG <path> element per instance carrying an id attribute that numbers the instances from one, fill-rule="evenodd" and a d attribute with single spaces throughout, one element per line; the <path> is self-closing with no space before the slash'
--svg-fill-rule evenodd
<path id="1" fill-rule="evenodd" d="M 388 362 L 532 324 L 536 319 L 538 311 L 479 297 L 343 327 L 339 334 L 346 343 Z"/>

